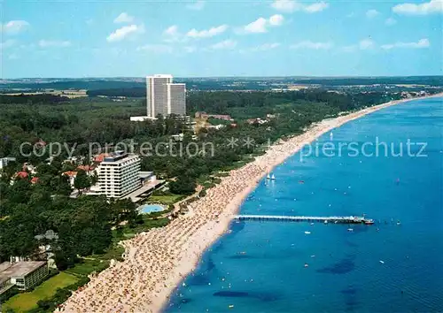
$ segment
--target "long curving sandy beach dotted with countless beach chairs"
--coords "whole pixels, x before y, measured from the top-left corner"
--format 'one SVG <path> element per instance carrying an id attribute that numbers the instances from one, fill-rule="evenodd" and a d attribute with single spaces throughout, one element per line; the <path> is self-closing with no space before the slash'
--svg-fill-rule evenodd
<path id="1" fill-rule="evenodd" d="M 432 97 L 443 96 L 442 94 Z M 305 144 L 355 118 L 384 109 L 404 99 L 323 120 L 306 133 L 278 141 L 262 156 L 229 172 L 206 196 L 189 205 L 190 212 L 162 228 L 139 233 L 125 240 L 123 262 L 113 263 L 91 278 L 57 310 L 66 312 L 159 312 L 169 295 L 190 271 L 202 253 L 228 230 L 232 215 L 260 179 Z"/>

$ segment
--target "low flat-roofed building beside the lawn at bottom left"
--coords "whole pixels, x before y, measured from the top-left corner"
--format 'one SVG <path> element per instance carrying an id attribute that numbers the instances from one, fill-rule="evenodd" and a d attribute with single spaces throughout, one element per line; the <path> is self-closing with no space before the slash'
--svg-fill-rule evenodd
<path id="1" fill-rule="evenodd" d="M 28 290 L 48 276 L 48 265 L 44 261 L 4 262 L 0 264 L 0 294 L 12 286 Z"/>

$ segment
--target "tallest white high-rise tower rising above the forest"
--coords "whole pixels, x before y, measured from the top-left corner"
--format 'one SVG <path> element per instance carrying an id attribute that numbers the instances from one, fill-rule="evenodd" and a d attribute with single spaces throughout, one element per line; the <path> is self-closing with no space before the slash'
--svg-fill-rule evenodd
<path id="1" fill-rule="evenodd" d="M 172 82 L 172 75 L 156 74 L 146 77 L 147 116 L 132 117 L 132 121 L 156 118 L 159 114 L 186 114 L 186 85 Z"/>

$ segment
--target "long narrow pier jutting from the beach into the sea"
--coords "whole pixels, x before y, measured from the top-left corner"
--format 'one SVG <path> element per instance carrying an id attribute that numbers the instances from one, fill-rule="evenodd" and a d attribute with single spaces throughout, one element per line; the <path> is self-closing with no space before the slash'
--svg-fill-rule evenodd
<path id="1" fill-rule="evenodd" d="M 240 221 L 272 221 L 272 222 L 322 222 L 333 224 L 374 224 L 374 220 L 365 217 L 296 217 L 278 215 L 235 215 Z"/>

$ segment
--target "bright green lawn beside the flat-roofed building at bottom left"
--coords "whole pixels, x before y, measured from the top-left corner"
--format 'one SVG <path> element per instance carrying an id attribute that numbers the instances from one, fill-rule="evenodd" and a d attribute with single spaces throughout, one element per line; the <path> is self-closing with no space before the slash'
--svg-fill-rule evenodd
<path id="1" fill-rule="evenodd" d="M 51 279 L 44 281 L 42 285 L 36 286 L 29 293 L 14 295 L 7 302 L 3 303 L 3 309 L 13 309 L 15 312 L 26 312 L 29 309 L 35 309 L 39 300 L 50 298 L 56 293 L 58 288 L 72 285 L 77 280 L 79 279 L 74 275 L 60 272 L 56 276 L 51 277 Z"/>

